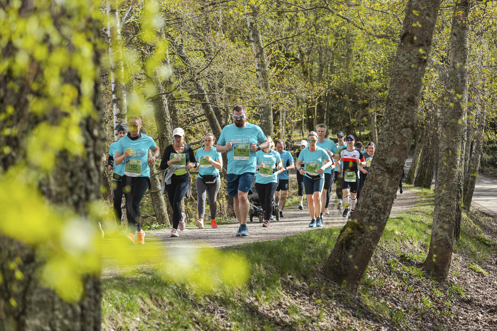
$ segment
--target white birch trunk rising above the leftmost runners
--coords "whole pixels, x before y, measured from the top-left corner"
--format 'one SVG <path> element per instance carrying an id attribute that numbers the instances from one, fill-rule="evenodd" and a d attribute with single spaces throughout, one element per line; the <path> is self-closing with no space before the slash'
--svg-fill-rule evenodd
<path id="1" fill-rule="evenodd" d="M 110 85 L 112 88 L 112 112 L 114 115 L 114 140 L 118 140 L 117 127 L 127 120 L 126 85 L 121 51 L 121 18 L 118 2 L 107 1 L 107 38 L 109 39 Z M 115 52 L 114 52 L 115 51 Z"/>

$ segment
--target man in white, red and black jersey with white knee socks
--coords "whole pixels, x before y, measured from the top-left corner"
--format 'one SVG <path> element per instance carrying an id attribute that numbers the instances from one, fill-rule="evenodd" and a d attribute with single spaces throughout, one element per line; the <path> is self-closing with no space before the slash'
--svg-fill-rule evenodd
<path id="1" fill-rule="evenodd" d="M 360 150 L 355 148 L 355 139 L 352 134 L 347 135 L 347 148 L 340 150 L 336 154 L 335 160 L 341 160 L 343 165 L 340 166 L 339 162 L 335 162 L 338 172 L 343 173 L 341 178 L 341 188 L 343 194 L 343 202 L 347 204 L 343 210 L 343 217 L 348 217 L 348 212 L 354 211 L 355 202 L 357 200 L 357 189 L 359 188 L 359 168 L 366 165 L 366 159 Z M 348 195 L 350 191 L 350 208 L 348 207 Z"/>

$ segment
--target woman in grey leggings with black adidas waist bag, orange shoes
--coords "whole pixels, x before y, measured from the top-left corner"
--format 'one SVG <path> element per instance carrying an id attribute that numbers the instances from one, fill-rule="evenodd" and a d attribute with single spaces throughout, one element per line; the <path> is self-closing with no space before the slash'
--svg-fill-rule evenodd
<path id="1" fill-rule="evenodd" d="M 207 133 L 204 137 L 205 147 L 197 150 L 195 158 L 198 166 L 198 176 L 195 181 L 197 186 L 197 211 L 198 221 L 196 226 L 204 228 L 204 214 L 205 214 L 205 198 L 209 194 L 209 209 L 211 213 L 211 228 L 217 228 L 216 224 L 216 211 L 217 211 L 217 194 L 221 185 L 219 177 L 219 170 L 223 168 L 223 159 L 221 153 L 214 147 L 214 134 Z"/>

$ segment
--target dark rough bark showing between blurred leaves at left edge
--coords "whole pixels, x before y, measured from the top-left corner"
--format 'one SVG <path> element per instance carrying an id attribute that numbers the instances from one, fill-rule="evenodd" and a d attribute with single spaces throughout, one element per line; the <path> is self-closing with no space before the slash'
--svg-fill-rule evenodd
<path id="1" fill-rule="evenodd" d="M 1 1 L 0 8 L 10 10 L 9 1 Z M 52 7 L 55 10 L 56 6 Z M 57 17 L 59 22 L 74 19 L 64 5 L 55 11 L 38 8 L 36 2 L 22 1 L 18 13 L 21 17 L 38 15 L 38 10 Z M 79 25 L 82 30 L 75 31 L 86 36 L 93 46 L 93 63 L 100 66 L 100 54 L 97 51 L 99 27 L 91 17 L 82 17 L 85 24 Z M 65 23 L 61 23 L 65 24 Z M 72 26 L 73 27 L 73 26 Z M 59 27 L 69 29 L 68 26 Z M 69 30 L 68 30 L 69 31 Z M 48 44 L 49 52 L 53 50 Z M 73 45 L 68 46 L 69 53 Z M 88 48 L 91 50 L 91 48 Z M 18 49 L 11 42 L 2 43 L 2 57 L 8 58 L 17 54 Z M 100 198 L 102 177 L 101 156 L 104 151 L 104 136 L 101 128 L 102 109 L 100 103 L 100 82 L 94 82 L 90 102 L 94 112 L 86 114 L 79 122 L 82 134 L 84 153 L 75 156 L 67 151 L 56 153 L 55 165 L 51 172 L 41 174 L 38 166 L 29 162 L 27 157 L 28 139 L 40 124 L 58 126 L 68 118 L 67 113 L 59 108 L 45 109 L 40 114 L 30 111 L 33 95 L 41 93 L 31 89 L 32 82 L 45 84 L 44 70 L 33 58 L 29 59 L 29 70 L 24 76 L 14 73 L 8 66 L 0 74 L 0 114 L 6 120 L 0 121 L 0 130 L 15 128 L 15 135 L 0 135 L 0 145 L 8 146 L 7 153 L 0 153 L 0 172 L 22 164 L 26 171 L 36 174 L 35 184 L 40 188 L 47 202 L 70 208 L 82 217 L 87 215 L 88 202 Z M 95 72 L 100 77 L 99 72 Z M 78 71 L 68 68 L 60 73 L 63 84 L 83 88 Z M 97 78 L 98 79 L 98 78 Z M 91 86 L 91 85 L 90 85 Z M 41 87 L 41 86 L 40 86 Z M 86 85 L 88 87 L 88 85 Z M 45 88 L 45 86 L 43 87 Z M 82 107 L 78 95 L 73 100 L 74 106 Z M 12 106 L 14 112 L 8 115 L 5 109 Z M 81 113 L 80 113 L 81 114 Z M 3 115 L 7 115 L 3 117 Z M 50 226 L 47 224 L 47 226 Z M 88 226 L 93 226 L 88 224 Z M 22 231 L 22 229 L 19 229 Z M 50 288 L 41 283 L 40 266 L 44 265 L 44 255 L 31 245 L 0 235 L 0 331 L 99 331 L 101 320 L 101 288 L 98 275 L 87 275 L 84 280 L 84 293 L 79 302 L 69 303 L 62 300 Z M 12 269 L 11 265 L 15 265 Z M 22 277 L 16 277 L 16 269 Z M 15 302 L 15 304 L 12 304 Z"/>

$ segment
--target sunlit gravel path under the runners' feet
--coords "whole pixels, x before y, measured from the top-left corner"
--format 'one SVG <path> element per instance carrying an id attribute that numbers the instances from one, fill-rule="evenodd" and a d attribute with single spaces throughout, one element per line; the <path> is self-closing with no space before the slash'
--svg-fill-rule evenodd
<path id="1" fill-rule="evenodd" d="M 398 199 L 394 200 L 392 213 L 414 207 L 414 201 L 418 198 L 409 189 L 404 193 L 398 194 Z M 333 201 L 333 199 L 331 199 Z M 333 201 L 334 202 L 334 201 Z M 343 209 L 336 209 L 333 205 L 330 209 L 330 215 L 323 215 L 323 227 L 333 227 L 345 225 L 346 218 L 342 217 Z M 297 205 L 289 206 L 283 211 L 285 217 L 280 218 L 279 222 L 271 221 L 269 228 L 263 228 L 262 224 L 254 218 L 253 222 L 247 221 L 248 237 L 235 237 L 238 230 L 238 221 L 231 224 L 220 225 L 217 229 L 210 228 L 210 222 L 205 229 L 196 227 L 186 227 L 180 231 L 179 238 L 171 238 L 171 229 L 147 231 L 149 238 L 152 236 L 164 241 L 168 248 L 172 247 L 192 247 L 196 245 L 209 245 L 212 247 L 226 247 L 249 243 L 254 241 L 274 240 L 283 238 L 303 231 L 319 231 L 320 228 L 309 228 L 311 221 L 309 210 L 304 206 L 304 210 L 299 210 Z"/>

